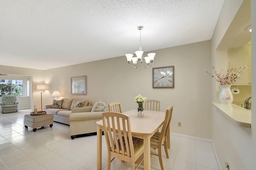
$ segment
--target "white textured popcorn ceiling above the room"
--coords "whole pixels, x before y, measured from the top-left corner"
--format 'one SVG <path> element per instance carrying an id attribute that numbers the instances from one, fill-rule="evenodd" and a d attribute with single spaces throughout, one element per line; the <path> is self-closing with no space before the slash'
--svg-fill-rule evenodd
<path id="1" fill-rule="evenodd" d="M 138 50 L 139 25 L 143 51 L 210 40 L 223 3 L 1 0 L 0 65 L 44 70 L 124 56 Z"/>

